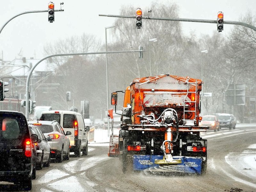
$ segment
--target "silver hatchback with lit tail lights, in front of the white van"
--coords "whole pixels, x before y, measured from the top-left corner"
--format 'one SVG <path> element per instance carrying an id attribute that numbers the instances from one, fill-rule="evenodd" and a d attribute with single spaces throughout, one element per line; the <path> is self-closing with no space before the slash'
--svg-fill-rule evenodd
<path id="1" fill-rule="evenodd" d="M 71 135 L 70 131 L 64 132 L 63 128 L 57 121 L 29 121 L 28 124 L 36 125 L 45 137 L 51 137 L 52 141 L 48 142 L 51 147 L 51 158 L 55 158 L 58 162 L 63 159 L 69 159 L 70 140 L 67 135 Z"/>

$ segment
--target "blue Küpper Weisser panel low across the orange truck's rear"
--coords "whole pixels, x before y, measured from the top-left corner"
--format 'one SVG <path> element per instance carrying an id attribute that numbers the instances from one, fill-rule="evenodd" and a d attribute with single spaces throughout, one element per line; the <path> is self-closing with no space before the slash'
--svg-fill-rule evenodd
<path id="1" fill-rule="evenodd" d="M 152 172 L 181 172 L 201 174 L 202 158 L 173 156 L 181 159 L 180 164 L 155 164 L 155 159 L 163 159 L 161 155 L 133 155 L 133 170 L 148 170 Z"/>

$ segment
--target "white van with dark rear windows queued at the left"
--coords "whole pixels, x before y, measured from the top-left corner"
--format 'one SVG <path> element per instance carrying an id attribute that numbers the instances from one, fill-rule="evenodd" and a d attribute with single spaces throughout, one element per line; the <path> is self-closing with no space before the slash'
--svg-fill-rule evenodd
<path id="1" fill-rule="evenodd" d="M 85 127 L 84 118 L 80 113 L 62 110 L 43 111 L 40 120 L 56 120 L 64 129 L 65 133 L 67 131 L 71 132 L 71 135 L 68 135 L 70 152 L 74 152 L 78 157 L 81 156 L 81 151 L 83 155 L 88 154 L 88 134 L 90 127 Z"/>

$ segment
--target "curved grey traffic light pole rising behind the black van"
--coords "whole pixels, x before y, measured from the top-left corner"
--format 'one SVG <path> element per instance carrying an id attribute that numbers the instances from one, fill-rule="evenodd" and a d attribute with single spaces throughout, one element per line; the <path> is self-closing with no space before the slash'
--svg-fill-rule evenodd
<path id="1" fill-rule="evenodd" d="M 131 52 L 144 52 L 142 50 L 134 50 L 134 51 L 110 51 L 110 52 L 91 52 L 91 53 L 62 53 L 62 54 L 53 54 L 53 55 L 48 55 L 46 57 L 44 57 L 43 59 L 39 60 L 36 65 L 34 65 L 29 73 L 28 73 L 28 77 L 27 77 L 27 82 L 26 82 L 26 103 L 28 103 L 29 101 L 29 81 L 30 81 L 30 77 L 32 75 L 32 72 L 34 71 L 34 69 L 36 68 L 36 66 L 41 63 L 43 60 L 46 60 L 50 57 L 58 57 L 58 56 L 71 56 L 71 55 L 95 55 L 95 54 L 109 54 L 109 53 L 131 53 Z M 26 118 L 28 119 L 28 105 L 26 105 Z"/>

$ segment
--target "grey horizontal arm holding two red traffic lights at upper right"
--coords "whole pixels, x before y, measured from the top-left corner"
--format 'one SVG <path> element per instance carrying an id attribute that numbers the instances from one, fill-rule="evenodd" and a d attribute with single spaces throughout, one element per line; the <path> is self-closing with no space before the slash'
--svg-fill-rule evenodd
<path id="1" fill-rule="evenodd" d="M 125 15 L 103 15 L 99 14 L 99 16 L 103 17 L 119 17 L 119 18 L 136 18 L 136 16 L 125 16 Z M 180 19 L 180 18 L 157 18 L 157 17 L 145 17 L 142 16 L 142 19 L 148 19 L 148 20 L 167 20 L 167 21 L 185 21 L 185 22 L 198 22 L 198 23 L 215 23 L 217 24 L 216 20 L 203 20 L 203 19 Z M 231 24 L 231 25 L 241 25 L 244 27 L 248 27 L 256 31 L 256 27 L 253 25 L 249 25 L 247 23 L 243 22 L 237 22 L 237 21 L 224 21 L 224 24 Z"/>

